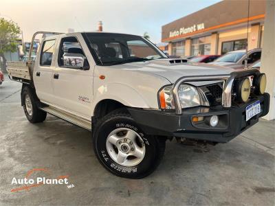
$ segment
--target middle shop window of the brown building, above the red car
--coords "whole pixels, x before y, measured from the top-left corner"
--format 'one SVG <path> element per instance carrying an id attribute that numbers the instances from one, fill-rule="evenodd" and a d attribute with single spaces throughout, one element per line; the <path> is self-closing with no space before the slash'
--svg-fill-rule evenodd
<path id="1" fill-rule="evenodd" d="M 192 39 L 192 46 L 191 46 L 191 55 L 198 56 L 198 55 L 208 55 L 210 54 L 211 48 L 211 37 L 210 36 L 203 36 L 200 38 L 193 38 Z"/>

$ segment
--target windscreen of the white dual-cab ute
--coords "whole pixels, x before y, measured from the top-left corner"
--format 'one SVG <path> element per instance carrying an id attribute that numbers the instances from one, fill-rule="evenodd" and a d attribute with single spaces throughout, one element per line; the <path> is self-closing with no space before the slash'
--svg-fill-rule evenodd
<path id="1" fill-rule="evenodd" d="M 119 65 L 167 58 L 157 47 L 140 36 L 110 33 L 83 33 L 99 65 Z"/>

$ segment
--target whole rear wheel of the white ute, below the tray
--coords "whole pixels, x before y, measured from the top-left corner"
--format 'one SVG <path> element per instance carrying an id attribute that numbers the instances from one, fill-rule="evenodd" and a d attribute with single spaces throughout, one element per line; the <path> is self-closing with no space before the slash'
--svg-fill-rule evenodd
<path id="1" fill-rule="evenodd" d="M 39 123 L 46 119 L 47 113 L 39 109 L 36 104 L 39 102 L 39 100 L 36 98 L 35 93 L 29 87 L 24 87 L 22 89 L 21 98 L 23 100 L 22 102 L 25 116 L 30 122 Z"/>

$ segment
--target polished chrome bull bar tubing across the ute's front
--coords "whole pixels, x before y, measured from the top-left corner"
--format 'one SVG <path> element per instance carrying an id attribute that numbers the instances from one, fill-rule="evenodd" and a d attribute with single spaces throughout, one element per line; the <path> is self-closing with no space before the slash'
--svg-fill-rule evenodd
<path id="1" fill-rule="evenodd" d="M 179 78 L 175 84 L 173 84 L 173 98 L 175 102 L 175 113 L 177 115 L 181 115 L 182 108 L 179 100 L 179 86 L 185 82 L 203 82 L 203 81 L 225 81 L 223 83 L 223 94 L 222 94 L 222 100 L 221 104 L 225 108 L 231 107 L 232 103 L 232 87 L 235 78 L 242 78 L 246 76 L 256 76 L 259 75 L 260 71 L 257 69 L 247 69 L 247 70 L 241 70 L 241 71 L 233 71 L 230 74 L 221 74 L 221 75 L 207 75 L 207 76 L 187 76 Z"/>

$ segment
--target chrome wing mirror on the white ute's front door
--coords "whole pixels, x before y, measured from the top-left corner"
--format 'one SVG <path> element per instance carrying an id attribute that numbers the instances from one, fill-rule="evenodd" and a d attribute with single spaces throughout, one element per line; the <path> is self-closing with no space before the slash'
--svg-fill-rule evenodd
<path id="1" fill-rule="evenodd" d="M 63 66 L 75 69 L 88 70 L 89 64 L 83 54 L 67 53 L 63 55 Z"/>

